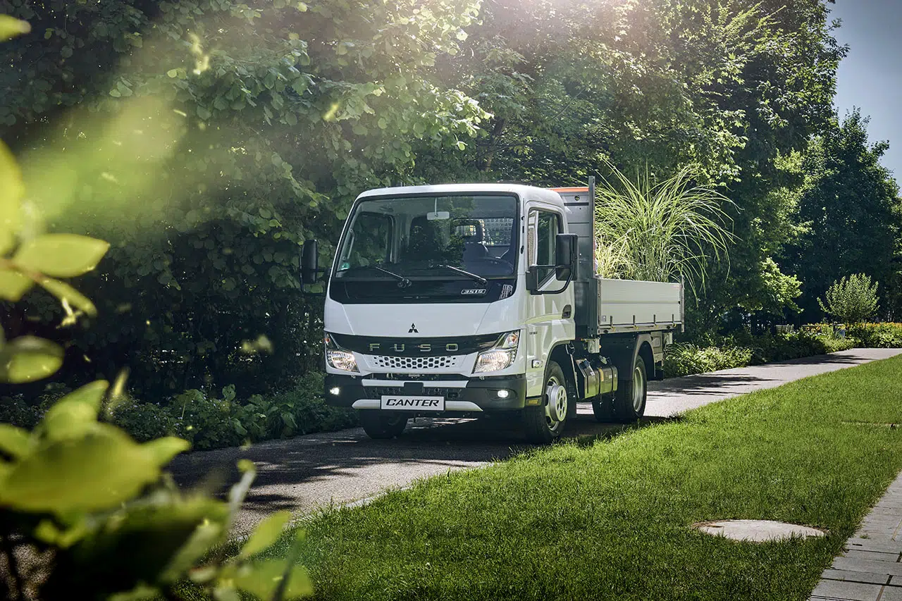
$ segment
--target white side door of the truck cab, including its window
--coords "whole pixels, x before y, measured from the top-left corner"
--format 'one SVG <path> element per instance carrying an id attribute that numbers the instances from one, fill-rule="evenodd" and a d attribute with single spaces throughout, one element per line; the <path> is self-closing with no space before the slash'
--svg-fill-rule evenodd
<path id="1" fill-rule="evenodd" d="M 564 233 L 563 213 L 559 208 L 534 205 L 528 216 L 527 268 L 554 264 L 555 240 L 558 233 Z M 527 297 L 527 398 L 542 394 L 548 356 L 554 347 L 575 336 L 573 286 L 559 291 L 563 285 L 554 269 L 541 269 L 538 290 Z"/>

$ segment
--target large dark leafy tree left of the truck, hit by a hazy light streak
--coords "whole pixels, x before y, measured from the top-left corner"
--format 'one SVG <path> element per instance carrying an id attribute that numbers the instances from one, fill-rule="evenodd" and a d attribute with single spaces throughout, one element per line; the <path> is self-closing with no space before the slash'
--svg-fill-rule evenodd
<path id="1" fill-rule="evenodd" d="M 112 243 L 82 285 L 118 319 L 75 332 L 67 369 L 108 373 L 127 357 L 143 393 L 262 392 L 318 366 L 321 303 L 299 293 L 299 243 L 328 250 L 356 193 L 409 179 L 414 143 L 457 148 L 486 117 L 432 77 L 471 0 L 3 11 L 32 23 L 0 50 L 13 66 L 0 134 L 41 183 L 36 227 L 65 220 Z M 22 329 L 60 317 L 38 295 L 8 311 Z M 243 355 L 260 335 L 274 354 Z"/>

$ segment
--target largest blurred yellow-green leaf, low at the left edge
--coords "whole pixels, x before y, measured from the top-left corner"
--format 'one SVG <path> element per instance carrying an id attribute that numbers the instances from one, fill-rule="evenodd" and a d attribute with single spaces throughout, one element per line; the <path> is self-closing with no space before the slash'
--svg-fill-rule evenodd
<path id="1" fill-rule="evenodd" d="M 121 430 L 97 423 L 85 436 L 49 440 L 0 480 L 0 504 L 32 513 L 115 507 L 160 477 L 147 453 Z"/>

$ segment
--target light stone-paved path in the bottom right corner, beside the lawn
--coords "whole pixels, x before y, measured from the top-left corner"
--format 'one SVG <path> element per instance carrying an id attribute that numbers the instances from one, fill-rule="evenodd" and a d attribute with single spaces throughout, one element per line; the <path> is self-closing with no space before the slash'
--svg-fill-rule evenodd
<path id="1" fill-rule="evenodd" d="M 889 485 L 842 555 L 824 570 L 811 601 L 902 600 L 902 475 Z"/>

